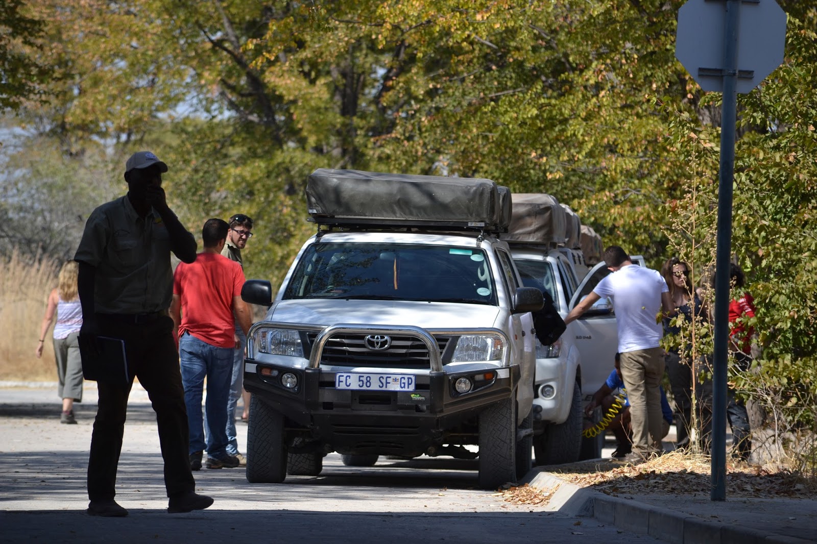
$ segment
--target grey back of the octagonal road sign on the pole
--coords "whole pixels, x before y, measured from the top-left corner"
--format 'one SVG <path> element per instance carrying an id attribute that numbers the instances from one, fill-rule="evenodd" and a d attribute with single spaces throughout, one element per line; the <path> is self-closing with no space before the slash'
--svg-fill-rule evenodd
<path id="1" fill-rule="evenodd" d="M 723 91 L 725 0 L 689 0 L 678 11 L 675 56 L 704 91 Z M 786 13 L 775 0 L 743 0 L 737 91 L 757 87 L 783 62 Z"/>

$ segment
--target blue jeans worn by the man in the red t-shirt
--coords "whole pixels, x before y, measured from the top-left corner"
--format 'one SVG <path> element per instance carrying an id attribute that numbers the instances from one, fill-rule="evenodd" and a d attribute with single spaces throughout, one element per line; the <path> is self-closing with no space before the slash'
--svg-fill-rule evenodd
<path id="1" fill-rule="evenodd" d="M 209 457 L 226 457 L 227 399 L 233 349 L 212 346 L 188 332 L 179 338 L 181 381 L 185 386 L 190 453 L 207 450 Z M 202 418 L 204 377 L 207 377 L 207 442 Z"/>

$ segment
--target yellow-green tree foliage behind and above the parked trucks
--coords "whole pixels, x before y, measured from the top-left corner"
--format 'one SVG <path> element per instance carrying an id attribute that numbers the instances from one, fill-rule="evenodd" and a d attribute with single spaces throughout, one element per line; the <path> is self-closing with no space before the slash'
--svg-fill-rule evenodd
<path id="1" fill-rule="evenodd" d="M 569 203 L 658 267 L 713 261 L 719 96 L 674 57 L 683 0 L 32 0 L 51 104 L 27 109 L 72 156 L 154 149 L 193 232 L 256 220 L 248 276 L 278 283 L 312 231 L 316 167 L 492 178 Z M 817 8 L 739 97 L 733 247 L 764 368 L 815 383 Z M 118 174 L 116 174 L 118 177 Z M 702 337 L 703 339 L 704 337 Z"/>

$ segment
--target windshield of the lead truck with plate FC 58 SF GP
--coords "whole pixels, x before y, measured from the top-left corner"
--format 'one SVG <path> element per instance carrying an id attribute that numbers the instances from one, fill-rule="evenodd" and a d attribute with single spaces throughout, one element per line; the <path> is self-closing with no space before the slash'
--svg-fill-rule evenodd
<path id="1" fill-rule="evenodd" d="M 481 249 L 395 243 L 313 243 L 283 293 L 304 298 L 497 304 Z"/>

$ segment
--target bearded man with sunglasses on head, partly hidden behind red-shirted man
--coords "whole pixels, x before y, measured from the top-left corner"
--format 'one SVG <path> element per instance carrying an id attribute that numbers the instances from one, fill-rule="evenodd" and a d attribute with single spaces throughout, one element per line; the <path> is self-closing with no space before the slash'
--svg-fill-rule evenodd
<path id="1" fill-rule="evenodd" d="M 247 245 L 248 239 L 252 238 L 252 218 L 243 213 L 236 213 L 227 221 L 230 230 L 227 231 L 227 243 L 221 250 L 221 255 L 235 261 L 243 268 L 241 260 L 241 250 Z M 227 402 L 227 453 L 239 458 L 240 466 L 247 466 L 247 459 L 239 453 L 239 440 L 235 432 L 235 408 L 239 404 L 239 398 L 243 396 L 244 410 L 242 419 L 246 420 L 249 412 L 250 394 L 243 390 L 244 377 L 244 349 L 247 347 L 247 337 L 236 321 L 235 326 L 235 352 L 233 357 L 233 376 L 230 381 L 230 399 Z"/>

